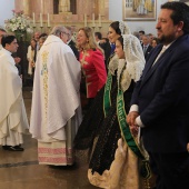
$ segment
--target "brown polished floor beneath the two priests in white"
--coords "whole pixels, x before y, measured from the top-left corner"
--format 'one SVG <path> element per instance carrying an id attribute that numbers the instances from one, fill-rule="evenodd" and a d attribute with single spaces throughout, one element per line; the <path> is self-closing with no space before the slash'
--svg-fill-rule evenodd
<path id="1" fill-rule="evenodd" d="M 23 91 L 28 116 L 31 92 Z M 87 163 L 77 160 L 72 167 L 38 165 L 37 141 L 24 136 L 24 151 L 0 148 L 0 189 L 94 189 L 87 179 Z"/>

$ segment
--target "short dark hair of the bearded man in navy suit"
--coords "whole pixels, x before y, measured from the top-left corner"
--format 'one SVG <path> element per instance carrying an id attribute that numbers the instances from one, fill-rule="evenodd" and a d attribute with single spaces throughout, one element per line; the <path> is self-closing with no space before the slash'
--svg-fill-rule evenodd
<path id="1" fill-rule="evenodd" d="M 185 2 L 166 2 L 161 6 L 161 9 L 172 10 L 170 18 L 173 21 L 173 24 L 178 24 L 180 21 L 183 22 L 183 32 L 189 33 L 189 6 Z"/>

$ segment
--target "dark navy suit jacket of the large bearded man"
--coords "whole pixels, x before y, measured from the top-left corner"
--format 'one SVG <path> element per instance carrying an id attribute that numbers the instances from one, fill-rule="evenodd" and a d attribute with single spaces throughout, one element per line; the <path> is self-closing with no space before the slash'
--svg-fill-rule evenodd
<path id="1" fill-rule="evenodd" d="M 189 142 L 189 36 L 178 38 L 153 64 L 150 53 L 131 105 L 139 106 L 145 147 L 151 152 L 187 151 Z M 153 64 L 153 66 L 152 66 Z"/>

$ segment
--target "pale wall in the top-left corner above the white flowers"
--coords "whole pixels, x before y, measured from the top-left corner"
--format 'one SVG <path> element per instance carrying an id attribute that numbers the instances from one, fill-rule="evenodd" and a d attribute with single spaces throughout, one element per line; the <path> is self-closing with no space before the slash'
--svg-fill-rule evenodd
<path id="1" fill-rule="evenodd" d="M 0 0 L 0 26 L 4 26 L 4 20 L 12 18 L 14 0 Z"/>

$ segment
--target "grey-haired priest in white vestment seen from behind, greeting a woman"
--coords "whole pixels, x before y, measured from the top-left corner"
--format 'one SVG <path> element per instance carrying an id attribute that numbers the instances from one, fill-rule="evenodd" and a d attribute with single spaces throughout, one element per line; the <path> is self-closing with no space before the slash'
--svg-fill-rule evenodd
<path id="1" fill-rule="evenodd" d="M 37 57 L 30 132 L 39 163 L 74 162 L 72 141 L 81 122 L 81 68 L 68 44 L 68 30 L 54 27 Z"/>

